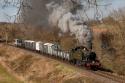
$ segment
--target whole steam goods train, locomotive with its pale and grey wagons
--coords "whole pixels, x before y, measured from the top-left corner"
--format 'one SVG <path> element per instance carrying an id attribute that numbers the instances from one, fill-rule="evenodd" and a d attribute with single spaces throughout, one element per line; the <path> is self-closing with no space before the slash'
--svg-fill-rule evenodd
<path id="1" fill-rule="evenodd" d="M 71 64 L 84 66 L 87 69 L 97 70 L 101 66 L 99 60 L 97 60 L 96 53 L 88 50 L 84 46 L 77 46 L 69 51 L 63 51 L 58 44 L 22 39 L 15 39 L 14 45 L 48 54 L 49 56 L 68 61 Z"/>

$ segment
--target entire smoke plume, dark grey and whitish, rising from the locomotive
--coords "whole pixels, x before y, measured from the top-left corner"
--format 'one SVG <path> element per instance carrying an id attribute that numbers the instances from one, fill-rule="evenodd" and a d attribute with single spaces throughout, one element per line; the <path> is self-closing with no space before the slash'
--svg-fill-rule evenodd
<path id="1" fill-rule="evenodd" d="M 35 26 L 58 27 L 62 33 L 75 35 L 79 45 L 91 48 L 92 32 L 85 24 L 86 11 L 90 9 L 88 1 L 93 0 L 23 0 L 21 21 Z"/>

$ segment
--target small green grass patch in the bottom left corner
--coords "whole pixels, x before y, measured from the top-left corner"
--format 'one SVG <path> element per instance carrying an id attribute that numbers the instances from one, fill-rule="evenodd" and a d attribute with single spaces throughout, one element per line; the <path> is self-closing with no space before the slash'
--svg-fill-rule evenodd
<path id="1" fill-rule="evenodd" d="M 23 83 L 11 75 L 6 69 L 0 64 L 0 83 Z"/>

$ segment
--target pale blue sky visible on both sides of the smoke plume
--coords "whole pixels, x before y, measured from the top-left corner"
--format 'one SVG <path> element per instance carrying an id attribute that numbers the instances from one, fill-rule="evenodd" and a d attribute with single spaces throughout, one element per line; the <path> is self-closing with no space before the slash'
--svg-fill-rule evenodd
<path id="1" fill-rule="evenodd" d="M 104 10 L 104 14 L 106 15 L 112 9 L 119 9 L 125 7 L 125 0 L 104 0 L 104 3 L 111 3 L 111 5 L 107 9 Z M 17 8 L 13 6 L 8 6 L 6 8 L 2 8 L 3 2 L 0 0 L 0 22 L 13 22 L 17 13 Z M 12 16 L 12 17 L 11 17 Z M 10 18 L 11 17 L 11 18 Z"/>

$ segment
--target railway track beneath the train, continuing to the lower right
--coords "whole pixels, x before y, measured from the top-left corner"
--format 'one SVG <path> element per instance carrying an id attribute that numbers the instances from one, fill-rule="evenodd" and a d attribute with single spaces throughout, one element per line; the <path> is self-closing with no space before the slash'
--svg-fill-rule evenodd
<path id="1" fill-rule="evenodd" d="M 11 44 L 9 44 L 9 46 L 15 47 L 15 46 L 13 46 L 13 45 L 11 45 Z M 17 48 L 17 47 L 15 47 L 15 48 Z M 20 49 L 22 49 L 22 48 L 20 48 Z M 24 50 L 26 50 L 26 49 L 24 49 Z M 30 50 L 28 50 L 28 51 L 30 51 Z M 34 53 L 33 51 L 30 51 L 30 52 Z M 35 53 L 36 53 L 36 52 L 35 52 Z M 38 53 L 38 54 L 39 54 L 39 53 Z M 83 71 L 83 69 L 86 70 L 86 69 L 83 68 L 83 67 L 76 66 L 76 65 L 74 66 L 73 64 L 70 64 L 68 61 L 63 61 L 63 60 L 60 60 L 60 59 L 58 59 L 58 58 L 56 58 L 56 57 L 51 57 L 51 56 L 45 56 L 45 57 L 52 58 L 52 59 L 56 59 L 56 60 L 58 60 L 58 61 L 60 61 L 60 62 L 62 62 L 62 63 L 65 63 L 65 64 L 67 64 L 67 65 L 69 65 L 69 66 L 73 66 L 73 67 L 75 67 L 75 68 L 77 67 L 77 69 L 80 69 L 81 72 Z M 102 76 L 102 77 L 104 77 L 104 78 L 110 79 L 110 80 L 112 80 L 112 81 L 115 81 L 116 83 L 125 83 L 125 77 L 124 77 L 124 76 L 114 75 L 114 74 L 111 73 L 111 72 L 106 72 L 106 71 L 101 71 L 101 70 L 98 70 L 98 71 L 87 70 L 87 71 L 88 71 L 88 72 L 91 72 L 91 73 L 93 73 L 93 74 Z"/>

